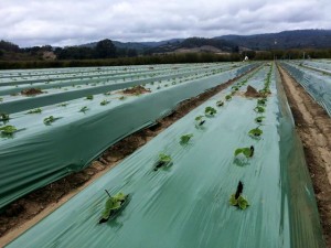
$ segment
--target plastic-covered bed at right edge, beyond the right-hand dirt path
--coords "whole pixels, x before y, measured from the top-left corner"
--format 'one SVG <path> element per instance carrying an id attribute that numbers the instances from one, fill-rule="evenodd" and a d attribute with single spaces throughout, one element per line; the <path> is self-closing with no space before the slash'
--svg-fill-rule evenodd
<path id="1" fill-rule="evenodd" d="M 331 77 L 289 63 L 281 65 L 331 117 Z"/>

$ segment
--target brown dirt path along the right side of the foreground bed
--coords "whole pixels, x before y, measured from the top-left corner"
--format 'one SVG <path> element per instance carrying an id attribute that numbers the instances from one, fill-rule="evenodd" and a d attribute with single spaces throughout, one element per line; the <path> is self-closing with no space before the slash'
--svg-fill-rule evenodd
<path id="1" fill-rule="evenodd" d="M 327 247 L 331 247 L 331 118 L 307 91 L 278 66 L 302 140 Z"/>

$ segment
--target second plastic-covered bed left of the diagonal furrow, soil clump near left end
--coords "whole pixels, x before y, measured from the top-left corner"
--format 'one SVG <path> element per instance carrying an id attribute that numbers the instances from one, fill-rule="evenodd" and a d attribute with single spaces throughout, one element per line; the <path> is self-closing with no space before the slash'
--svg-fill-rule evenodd
<path id="1" fill-rule="evenodd" d="M 231 69 L 236 71 L 236 68 L 233 68 L 233 66 L 237 67 L 239 65 L 232 65 L 229 63 L 217 63 L 215 65 L 209 64 L 207 66 L 188 65 L 186 67 L 182 68 L 174 67 L 177 69 L 172 69 L 172 66 L 168 66 L 163 69 L 150 69 L 148 73 L 145 74 L 140 74 L 134 71 L 131 74 L 128 74 L 126 76 L 113 75 L 104 79 L 98 77 L 95 79 L 83 77 L 82 79 L 78 76 L 78 74 L 74 74 L 76 75 L 76 78 L 71 79 L 68 82 L 63 82 L 53 78 L 52 82 L 44 82 L 41 84 L 34 83 L 32 85 L 28 84 L 25 86 L 17 85 L 17 87 L 2 87 L 0 84 L 0 96 L 3 96 L 1 97 L 2 103 L 0 103 L 0 112 L 12 114 L 47 105 L 54 105 L 62 101 L 73 100 L 88 95 L 102 94 L 110 90 L 132 87 L 136 85 L 148 84 L 158 80 L 170 80 L 171 78 L 192 76 L 194 74 L 204 75 L 213 71 L 220 69 L 222 72 Z M 29 77 L 24 78 L 29 79 Z M 20 91 L 22 89 L 28 89 L 31 87 L 41 88 L 44 93 L 35 96 L 20 95 Z"/>

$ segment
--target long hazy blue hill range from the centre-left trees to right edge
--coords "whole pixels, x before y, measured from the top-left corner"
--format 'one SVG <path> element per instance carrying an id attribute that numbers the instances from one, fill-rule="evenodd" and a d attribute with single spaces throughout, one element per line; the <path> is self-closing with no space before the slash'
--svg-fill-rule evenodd
<path id="1" fill-rule="evenodd" d="M 97 42 L 81 46 L 95 47 Z M 331 30 L 293 30 L 253 35 L 222 35 L 212 39 L 188 37 L 159 42 L 113 41 L 117 48 L 142 53 L 264 51 L 288 48 L 331 48 Z"/>

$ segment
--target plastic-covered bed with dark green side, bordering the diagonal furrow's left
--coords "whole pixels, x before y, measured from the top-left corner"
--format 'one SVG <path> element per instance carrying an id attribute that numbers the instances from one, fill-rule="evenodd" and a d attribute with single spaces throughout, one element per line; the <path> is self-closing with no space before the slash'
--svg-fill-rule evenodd
<path id="1" fill-rule="evenodd" d="M 84 169 L 103 151 L 122 138 L 152 125 L 184 99 L 234 78 L 249 68 L 189 82 L 108 109 L 100 106 L 85 116 L 61 111 L 63 118 L 52 126 L 33 125 L 12 139 L 1 139 L 0 208 L 26 193 Z M 151 107 L 152 106 L 152 107 Z M 26 127 L 13 119 L 15 127 Z M 18 119 L 17 121 L 20 121 Z"/>

